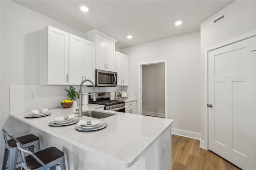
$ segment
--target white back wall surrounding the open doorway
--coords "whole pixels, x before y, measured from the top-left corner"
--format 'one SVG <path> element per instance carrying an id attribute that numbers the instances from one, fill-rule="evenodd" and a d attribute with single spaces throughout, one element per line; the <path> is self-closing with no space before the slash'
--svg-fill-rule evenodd
<path id="1" fill-rule="evenodd" d="M 138 63 L 167 59 L 172 128 L 200 133 L 200 32 L 126 47 L 122 53 L 129 55 L 129 85 L 134 89 L 138 89 Z M 138 99 L 138 94 L 134 97 Z"/>

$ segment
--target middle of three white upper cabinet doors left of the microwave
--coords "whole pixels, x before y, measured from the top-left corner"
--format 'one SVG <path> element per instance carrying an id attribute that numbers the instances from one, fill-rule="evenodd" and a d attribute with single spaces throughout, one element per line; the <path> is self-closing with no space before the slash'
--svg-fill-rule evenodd
<path id="1" fill-rule="evenodd" d="M 69 85 L 80 85 L 84 72 L 84 39 L 69 35 Z"/>

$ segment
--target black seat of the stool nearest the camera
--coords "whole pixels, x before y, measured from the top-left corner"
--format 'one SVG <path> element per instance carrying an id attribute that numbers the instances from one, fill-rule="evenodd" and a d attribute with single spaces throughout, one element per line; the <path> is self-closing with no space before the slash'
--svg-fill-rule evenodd
<path id="1" fill-rule="evenodd" d="M 64 152 L 58 150 L 55 147 L 46 148 L 44 150 L 40 150 L 39 152 L 34 153 L 44 164 L 48 164 L 58 158 L 64 156 Z M 28 168 L 31 170 L 37 169 L 42 165 L 37 162 L 31 155 L 25 157 Z"/>

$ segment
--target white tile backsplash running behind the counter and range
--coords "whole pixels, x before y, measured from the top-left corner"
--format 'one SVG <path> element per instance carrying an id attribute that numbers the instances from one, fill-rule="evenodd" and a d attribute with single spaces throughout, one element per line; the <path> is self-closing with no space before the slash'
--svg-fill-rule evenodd
<path id="1" fill-rule="evenodd" d="M 61 85 L 10 85 L 10 114 L 30 111 L 32 109 L 53 109 L 60 106 L 60 102 L 67 99 L 67 92 L 64 88 L 70 86 Z M 73 86 L 76 91 L 79 86 Z M 115 98 L 115 92 L 127 91 L 128 98 L 134 97 L 134 87 L 95 87 L 95 92 L 110 92 L 111 99 Z M 130 91 L 130 92 L 129 92 Z M 92 87 L 82 86 L 82 92 L 93 92 Z M 33 99 L 31 94 L 35 95 Z M 130 96 L 129 96 L 130 95 Z M 78 101 L 79 103 L 79 101 Z"/>

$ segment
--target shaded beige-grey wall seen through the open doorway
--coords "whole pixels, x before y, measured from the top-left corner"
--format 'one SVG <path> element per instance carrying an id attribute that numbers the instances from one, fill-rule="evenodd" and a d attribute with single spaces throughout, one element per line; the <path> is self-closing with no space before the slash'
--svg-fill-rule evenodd
<path id="1" fill-rule="evenodd" d="M 142 113 L 164 117 L 164 63 L 142 65 Z"/>

